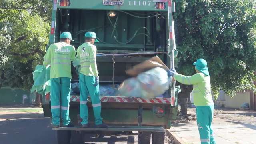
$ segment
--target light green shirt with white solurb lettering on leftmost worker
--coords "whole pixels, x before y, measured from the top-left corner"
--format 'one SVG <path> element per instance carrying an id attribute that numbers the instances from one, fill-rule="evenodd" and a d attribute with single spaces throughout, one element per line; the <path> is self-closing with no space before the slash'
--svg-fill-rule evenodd
<path id="1" fill-rule="evenodd" d="M 50 78 L 71 78 L 71 61 L 75 59 L 74 46 L 66 42 L 51 44 L 44 56 L 44 66 L 50 64 Z"/>

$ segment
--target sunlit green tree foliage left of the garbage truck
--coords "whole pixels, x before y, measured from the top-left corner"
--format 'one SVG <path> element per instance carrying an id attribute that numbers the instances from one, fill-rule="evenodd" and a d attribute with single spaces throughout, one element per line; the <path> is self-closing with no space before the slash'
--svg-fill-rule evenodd
<path id="1" fill-rule="evenodd" d="M 48 0 L 0 2 L 0 86 L 31 88 L 48 43 L 50 5 Z"/>

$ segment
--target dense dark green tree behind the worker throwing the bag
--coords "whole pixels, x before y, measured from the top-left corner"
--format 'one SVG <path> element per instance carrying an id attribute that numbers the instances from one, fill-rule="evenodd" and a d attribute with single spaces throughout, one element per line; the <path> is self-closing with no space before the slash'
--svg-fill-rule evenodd
<path id="1" fill-rule="evenodd" d="M 198 58 L 208 62 L 214 98 L 234 96 L 252 83 L 256 67 L 254 0 L 176 0 L 174 15 L 178 72 L 195 73 Z"/>

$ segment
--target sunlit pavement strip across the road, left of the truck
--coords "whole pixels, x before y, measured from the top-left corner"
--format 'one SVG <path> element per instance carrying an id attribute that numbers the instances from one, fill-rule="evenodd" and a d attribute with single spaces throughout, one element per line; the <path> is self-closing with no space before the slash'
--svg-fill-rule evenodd
<path id="1" fill-rule="evenodd" d="M 0 107 L 0 121 L 14 118 L 22 118 L 33 114 L 42 114 L 43 109 L 40 107 Z"/>

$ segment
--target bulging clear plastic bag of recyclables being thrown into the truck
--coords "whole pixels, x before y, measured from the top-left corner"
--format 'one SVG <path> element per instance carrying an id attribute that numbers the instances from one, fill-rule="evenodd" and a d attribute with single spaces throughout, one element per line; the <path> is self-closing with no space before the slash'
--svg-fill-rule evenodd
<path id="1" fill-rule="evenodd" d="M 140 73 L 137 78 L 125 80 L 118 88 L 120 96 L 152 99 L 168 90 L 172 77 L 160 67 Z"/>

